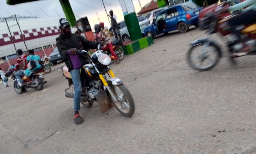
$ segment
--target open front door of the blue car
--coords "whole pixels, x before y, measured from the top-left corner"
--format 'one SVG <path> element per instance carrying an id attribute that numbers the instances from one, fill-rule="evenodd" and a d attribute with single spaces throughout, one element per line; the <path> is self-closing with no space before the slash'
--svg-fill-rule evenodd
<path id="1" fill-rule="evenodd" d="M 164 26 L 162 21 L 165 22 L 166 19 L 166 11 L 160 12 L 158 16 L 156 17 L 156 20 L 154 21 L 154 30 L 157 34 L 164 33 L 166 29 L 164 29 Z"/>

